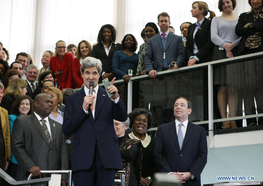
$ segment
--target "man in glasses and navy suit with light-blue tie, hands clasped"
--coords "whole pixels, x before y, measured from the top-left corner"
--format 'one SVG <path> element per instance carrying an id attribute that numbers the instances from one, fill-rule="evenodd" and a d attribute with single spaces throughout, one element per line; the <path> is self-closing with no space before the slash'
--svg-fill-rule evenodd
<path id="1" fill-rule="evenodd" d="M 160 172 L 174 174 L 184 185 L 201 186 L 207 162 L 205 129 L 188 122 L 192 103 L 179 97 L 174 103 L 175 121 L 158 127 L 154 156 Z"/>

